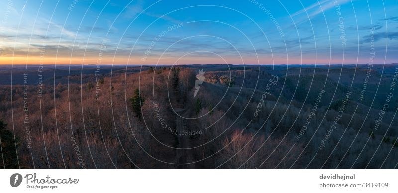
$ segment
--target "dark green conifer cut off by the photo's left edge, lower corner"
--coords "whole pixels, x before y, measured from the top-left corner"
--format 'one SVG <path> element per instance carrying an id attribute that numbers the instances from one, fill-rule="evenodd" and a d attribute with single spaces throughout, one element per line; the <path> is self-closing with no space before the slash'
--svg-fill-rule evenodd
<path id="1" fill-rule="evenodd" d="M 0 168 L 19 168 L 16 149 L 20 146 L 19 138 L 14 139 L 11 131 L 6 130 L 7 124 L 0 120 Z"/>

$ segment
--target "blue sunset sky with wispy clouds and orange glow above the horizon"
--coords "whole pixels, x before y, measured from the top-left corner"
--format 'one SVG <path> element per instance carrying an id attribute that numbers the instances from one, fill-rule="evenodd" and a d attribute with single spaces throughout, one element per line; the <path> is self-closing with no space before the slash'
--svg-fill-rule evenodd
<path id="1" fill-rule="evenodd" d="M 0 0 L 0 64 L 384 64 L 398 0 Z"/>

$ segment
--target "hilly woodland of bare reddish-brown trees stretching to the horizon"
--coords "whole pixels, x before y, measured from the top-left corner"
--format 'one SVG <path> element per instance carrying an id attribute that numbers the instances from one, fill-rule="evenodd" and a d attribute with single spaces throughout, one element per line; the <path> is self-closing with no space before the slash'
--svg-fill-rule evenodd
<path id="1" fill-rule="evenodd" d="M 0 168 L 398 163 L 397 64 L 3 66 L 0 75 Z"/>

